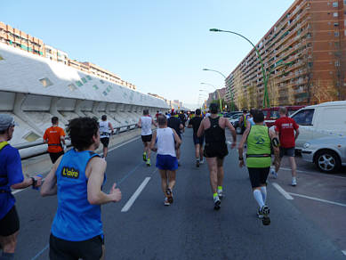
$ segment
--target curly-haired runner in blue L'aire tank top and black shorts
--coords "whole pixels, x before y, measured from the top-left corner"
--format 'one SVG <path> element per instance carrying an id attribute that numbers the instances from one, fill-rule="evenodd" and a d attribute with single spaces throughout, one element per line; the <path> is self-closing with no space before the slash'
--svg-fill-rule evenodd
<path id="1" fill-rule="evenodd" d="M 41 188 L 42 196 L 58 194 L 49 257 L 52 260 L 103 259 L 101 205 L 118 202 L 121 191 L 116 183 L 109 194 L 101 191 L 107 162 L 94 152 L 100 146 L 97 121 L 72 119 L 68 135 L 74 148 L 57 160 Z"/>

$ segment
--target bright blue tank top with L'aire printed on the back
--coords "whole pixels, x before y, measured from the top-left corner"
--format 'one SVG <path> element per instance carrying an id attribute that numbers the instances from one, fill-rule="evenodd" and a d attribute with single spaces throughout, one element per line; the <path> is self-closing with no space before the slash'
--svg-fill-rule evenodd
<path id="1" fill-rule="evenodd" d="M 88 201 L 85 168 L 98 154 L 74 149 L 61 158 L 56 171 L 58 209 L 52 222 L 52 235 L 61 240 L 82 241 L 102 235 L 101 206 Z M 106 176 L 105 176 L 106 180 Z"/>

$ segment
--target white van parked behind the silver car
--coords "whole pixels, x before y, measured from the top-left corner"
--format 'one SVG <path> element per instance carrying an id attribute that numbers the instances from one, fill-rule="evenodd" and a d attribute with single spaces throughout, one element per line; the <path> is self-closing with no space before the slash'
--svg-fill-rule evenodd
<path id="1" fill-rule="evenodd" d="M 346 101 L 326 102 L 305 107 L 290 116 L 299 125 L 295 149 L 302 150 L 305 142 L 320 137 L 346 137 Z"/>

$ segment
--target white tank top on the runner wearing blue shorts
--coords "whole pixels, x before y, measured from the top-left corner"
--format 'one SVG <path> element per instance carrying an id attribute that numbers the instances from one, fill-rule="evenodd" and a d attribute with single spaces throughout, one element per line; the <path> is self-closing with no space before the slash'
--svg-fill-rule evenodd
<path id="1" fill-rule="evenodd" d="M 176 157 L 173 130 L 170 127 L 157 128 L 157 154 Z"/>

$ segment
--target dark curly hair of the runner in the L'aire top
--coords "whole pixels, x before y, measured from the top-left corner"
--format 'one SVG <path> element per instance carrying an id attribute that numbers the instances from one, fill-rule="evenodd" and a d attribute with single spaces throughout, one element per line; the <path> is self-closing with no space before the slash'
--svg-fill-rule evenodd
<path id="1" fill-rule="evenodd" d="M 93 118 L 74 118 L 68 124 L 68 136 L 77 150 L 88 149 L 93 144 L 93 136 L 99 131 L 99 123 Z"/>

